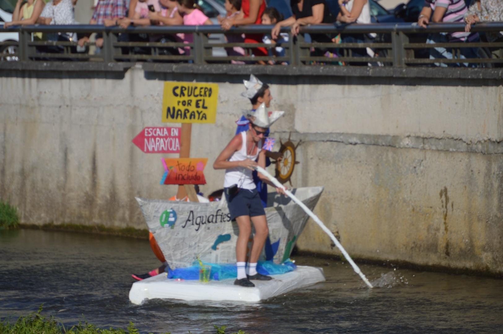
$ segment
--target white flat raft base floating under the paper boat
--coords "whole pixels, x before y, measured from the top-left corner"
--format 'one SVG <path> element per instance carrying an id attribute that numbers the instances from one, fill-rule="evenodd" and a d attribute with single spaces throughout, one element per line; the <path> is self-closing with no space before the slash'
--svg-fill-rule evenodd
<path id="1" fill-rule="evenodd" d="M 294 271 L 272 277 L 270 281 L 253 281 L 255 287 L 246 288 L 234 285 L 234 279 L 201 283 L 167 279 L 162 273 L 133 283 L 129 300 L 137 305 L 154 298 L 258 302 L 325 281 L 323 269 L 308 266 L 297 266 Z"/>

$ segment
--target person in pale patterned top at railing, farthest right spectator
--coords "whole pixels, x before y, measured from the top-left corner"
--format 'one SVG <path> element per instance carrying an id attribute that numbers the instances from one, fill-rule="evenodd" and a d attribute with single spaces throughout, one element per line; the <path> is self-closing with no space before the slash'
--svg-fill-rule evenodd
<path id="1" fill-rule="evenodd" d="M 471 26 L 477 22 L 503 22 L 503 0 L 478 0 L 472 1 L 468 12 L 465 14 L 465 31 L 469 32 Z M 487 42 L 503 42 L 503 31 L 486 32 L 484 37 Z M 492 58 L 501 58 L 500 48 L 489 48 Z M 495 64 L 501 66 L 501 64 Z"/>

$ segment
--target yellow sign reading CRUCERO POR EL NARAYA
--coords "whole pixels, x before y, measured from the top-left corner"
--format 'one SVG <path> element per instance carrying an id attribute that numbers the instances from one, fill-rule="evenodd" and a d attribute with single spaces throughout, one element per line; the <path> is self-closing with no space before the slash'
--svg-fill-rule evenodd
<path id="1" fill-rule="evenodd" d="M 215 123 L 217 83 L 164 82 L 163 123 Z"/>

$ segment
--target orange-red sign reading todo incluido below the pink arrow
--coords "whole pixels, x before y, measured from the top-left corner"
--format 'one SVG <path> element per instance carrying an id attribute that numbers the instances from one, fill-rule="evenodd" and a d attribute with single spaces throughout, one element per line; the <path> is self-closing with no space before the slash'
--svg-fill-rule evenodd
<path id="1" fill-rule="evenodd" d="M 160 184 L 206 184 L 203 170 L 208 158 L 162 159 L 164 175 Z"/>

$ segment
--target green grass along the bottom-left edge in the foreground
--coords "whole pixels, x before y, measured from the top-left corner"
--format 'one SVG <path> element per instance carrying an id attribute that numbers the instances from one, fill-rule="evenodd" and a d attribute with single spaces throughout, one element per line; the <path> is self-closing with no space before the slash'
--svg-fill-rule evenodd
<path id="1" fill-rule="evenodd" d="M 0 334 L 139 334 L 139 330 L 136 329 L 132 322 L 129 322 L 127 330 L 112 327 L 108 329 L 99 328 L 87 322 L 85 325 L 79 323 L 78 325 L 66 328 L 63 324 L 57 322 L 54 316 L 46 317 L 42 315 L 42 306 L 40 305 L 37 312 L 21 316 L 14 323 L 9 321 L 10 318 L 3 319 L 0 321 Z M 213 326 L 216 329 L 216 334 L 225 334 L 226 326 Z M 188 330 L 188 333 L 191 332 Z M 165 334 L 171 334 L 171 332 L 166 332 Z M 232 334 L 246 333 L 239 330 L 237 333 Z"/>

